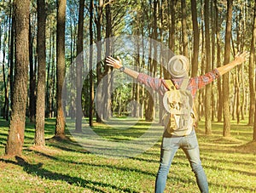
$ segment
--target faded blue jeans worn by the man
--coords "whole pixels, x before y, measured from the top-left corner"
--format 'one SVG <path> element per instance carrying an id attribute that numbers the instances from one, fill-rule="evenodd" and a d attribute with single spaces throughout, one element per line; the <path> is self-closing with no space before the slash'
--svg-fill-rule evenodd
<path id="1" fill-rule="evenodd" d="M 184 151 L 189 160 L 199 189 L 201 192 L 208 192 L 207 176 L 201 166 L 199 146 L 194 129 L 189 135 L 183 137 L 164 133 L 161 145 L 160 167 L 155 180 L 155 192 L 164 192 L 172 159 L 179 148 Z"/>

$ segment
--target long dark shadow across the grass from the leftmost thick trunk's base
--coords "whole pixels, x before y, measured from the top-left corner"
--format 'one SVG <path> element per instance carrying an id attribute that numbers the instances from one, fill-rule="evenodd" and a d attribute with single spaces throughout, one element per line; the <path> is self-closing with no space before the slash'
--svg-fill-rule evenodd
<path id="1" fill-rule="evenodd" d="M 51 171 L 43 168 L 43 163 L 39 162 L 38 164 L 30 164 L 29 162 L 26 162 L 20 156 L 15 156 L 15 159 L 17 162 L 12 161 L 12 160 L 4 160 L 4 159 L 0 159 L 0 161 L 6 162 L 6 163 L 12 163 L 12 164 L 18 165 L 20 167 L 23 167 L 23 169 L 26 173 L 28 173 L 28 174 L 37 173 L 37 176 L 42 179 L 61 180 L 61 181 L 67 182 L 68 184 L 77 185 L 79 187 L 87 188 L 87 189 L 94 190 L 97 192 L 105 192 L 105 191 L 103 191 L 99 188 L 96 188 L 95 186 L 99 186 L 102 188 L 109 187 L 109 188 L 112 188 L 113 190 L 119 190 L 119 191 L 125 191 L 125 192 L 135 192 L 134 190 L 130 190 L 129 188 L 120 189 L 119 187 L 117 187 L 113 184 L 106 184 L 106 183 L 102 183 L 102 182 L 82 179 L 79 177 L 73 177 L 73 176 L 70 176 L 67 174 L 63 174 L 63 173 L 51 172 Z"/>

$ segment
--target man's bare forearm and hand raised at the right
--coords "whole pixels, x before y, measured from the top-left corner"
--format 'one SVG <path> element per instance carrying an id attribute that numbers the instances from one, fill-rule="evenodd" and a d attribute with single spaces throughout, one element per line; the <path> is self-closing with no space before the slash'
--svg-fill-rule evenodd
<path id="1" fill-rule="evenodd" d="M 235 60 L 231 61 L 227 65 L 223 65 L 221 67 L 218 67 L 218 73 L 220 76 L 224 75 L 224 73 L 232 70 L 236 65 L 241 65 L 241 63 L 245 62 L 248 58 L 248 53 L 243 52 L 242 54 L 236 54 Z"/>

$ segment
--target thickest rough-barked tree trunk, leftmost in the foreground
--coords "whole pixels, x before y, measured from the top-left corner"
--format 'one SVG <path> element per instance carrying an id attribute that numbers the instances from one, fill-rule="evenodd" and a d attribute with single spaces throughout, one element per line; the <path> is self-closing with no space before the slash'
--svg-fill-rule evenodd
<path id="1" fill-rule="evenodd" d="M 27 73 L 29 64 L 29 0 L 14 2 L 15 15 L 15 84 L 9 135 L 5 154 L 21 155 L 26 121 Z"/>

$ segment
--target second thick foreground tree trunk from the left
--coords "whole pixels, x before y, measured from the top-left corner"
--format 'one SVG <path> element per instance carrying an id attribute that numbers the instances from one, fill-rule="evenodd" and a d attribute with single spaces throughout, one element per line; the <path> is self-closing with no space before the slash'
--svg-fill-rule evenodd
<path id="1" fill-rule="evenodd" d="M 38 0 L 38 86 L 36 100 L 36 133 L 35 145 L 45 145 L 44 141 L 44 111 L 45 111 L 45 0 Z"/>

